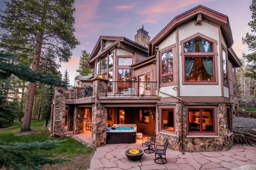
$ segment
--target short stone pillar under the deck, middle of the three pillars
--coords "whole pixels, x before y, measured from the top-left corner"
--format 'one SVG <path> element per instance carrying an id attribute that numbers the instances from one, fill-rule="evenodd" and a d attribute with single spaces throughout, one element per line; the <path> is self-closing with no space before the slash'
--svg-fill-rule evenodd
<path id="1" fill-rule="evenodd" d="M 74 134 L 83 133 L 83 125 L 84 124 L 84 113 L 81 108 L 75 106 L 74 109 Z"/>

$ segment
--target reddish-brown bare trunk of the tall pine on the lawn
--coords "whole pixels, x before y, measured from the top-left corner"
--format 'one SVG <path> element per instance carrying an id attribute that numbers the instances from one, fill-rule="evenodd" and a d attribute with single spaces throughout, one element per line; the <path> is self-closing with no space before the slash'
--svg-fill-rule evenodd
<path id="1" fill-rule="evenodd" d="M 38 72 L 39 70 L 39 61 L 41 57 L 42 45 L 43 45 L 43 33 L 39 32 L 37 43 L 34 49 L 34 57 L 32 61 L 32 69 L 31 69 L 32 71 L 35 71 L 35 72 Z M 26 132 L 31 130 L 30 122 L 31 122 L 35 93 L 36 93 L 36 83 L 29 83 L 28 97 L 26 100 L 25 113 L 24 113 L 24 118 L 23 118 L 20 132 Z"/>

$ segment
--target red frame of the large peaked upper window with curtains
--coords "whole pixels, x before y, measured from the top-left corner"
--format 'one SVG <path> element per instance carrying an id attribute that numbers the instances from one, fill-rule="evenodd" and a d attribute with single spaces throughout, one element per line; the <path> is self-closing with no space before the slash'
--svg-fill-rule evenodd
<path id="1" fill-rule="evenodd" d="M 185 53 L 185 47 L 184 44 L 187 43 L 188 41 L 191 41 L 195 38 L 201 38 L 204 39 L 206 41 L 209 41 L 210 43 L 212 43 L 212 48 L 213 48 L 213 52 L 186 52 Z M 182 64 L 182 84 L 218 84 L 218 65 L 217 65 L 217 61 L 218 61 L 218 53 L 217 53 L 217 40 L 214 40 L 210 37 L 207 37 L 201 33 L 196 33 L 193 36 L 190 36 L 186 39 L 183 39 L 180 41 L 180 45 L 181 45 L 181 64 Z M 186 81 L 186 71 L 185 71 L 185 58 L 186 57 L 207 57 L 207 56 L 212 56 L 213 57 L 213 75 L 214 75 L 214 80 L 213 81 Z"/>

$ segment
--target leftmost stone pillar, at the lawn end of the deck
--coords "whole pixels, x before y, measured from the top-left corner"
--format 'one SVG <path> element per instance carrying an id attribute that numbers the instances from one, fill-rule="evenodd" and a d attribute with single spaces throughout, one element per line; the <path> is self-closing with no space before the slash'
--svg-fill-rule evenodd
<path id="1" fill-rule="evenodd" d="M 55 87 L 51 111 L 51 136 L 63 137 L 65 132 L 66 89 Z"/>

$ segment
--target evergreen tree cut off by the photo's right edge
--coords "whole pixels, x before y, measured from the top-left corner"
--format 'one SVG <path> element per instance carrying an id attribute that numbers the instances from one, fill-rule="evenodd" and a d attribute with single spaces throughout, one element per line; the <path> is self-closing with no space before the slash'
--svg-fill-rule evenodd
<path id="1" fill-rule="evenodd" d="M 251 27 L 253 33 L 256 32 L 256 0 L 252 1 L 250 5 L 250 10 L 252 12 L 252 20 L 248 23 Z M 247 54 L 244 57 L 249 62 L 249 71 L 245 72 L 246 77 L 251 77 L 256 79 L 256 35 L 253 33 L 246 33 L 246 36 L 242 39 L 243 43 L 247 44 L 249 50 L 252 51 L 251 54 Z M 256 90 L 256 82 L 254 82 L 254 90 Z M 255 95 L 255 91 L 254 91 Z"/>

